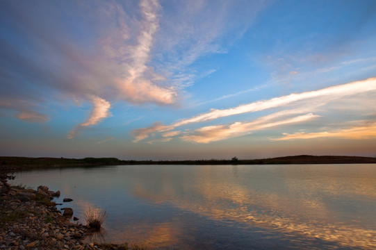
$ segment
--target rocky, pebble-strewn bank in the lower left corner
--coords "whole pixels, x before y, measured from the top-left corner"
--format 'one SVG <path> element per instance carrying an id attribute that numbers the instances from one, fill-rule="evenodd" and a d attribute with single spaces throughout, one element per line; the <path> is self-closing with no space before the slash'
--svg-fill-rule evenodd
<path id="1" fill-rule="evenodd" d="M 62 214 L 51 201 L 60 192 L 10 186 L 8 178 L 0 176 L 0 249 L 129 249 L 126 244 L 84 243 L 90 229 L 70 222 L 72 214 Z"/>

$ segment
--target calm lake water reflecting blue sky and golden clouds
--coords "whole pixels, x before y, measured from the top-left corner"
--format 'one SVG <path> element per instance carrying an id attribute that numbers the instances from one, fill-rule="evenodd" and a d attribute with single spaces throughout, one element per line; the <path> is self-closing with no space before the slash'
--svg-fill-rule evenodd
<path id="1" fill-rule="evenodd" d="M 376 165 L 136 165 L 15 173 L 106 208 L 97 240 L 148 249 L 376 249 Z M 58 199 L 59 202 L 59 199 Z"/>

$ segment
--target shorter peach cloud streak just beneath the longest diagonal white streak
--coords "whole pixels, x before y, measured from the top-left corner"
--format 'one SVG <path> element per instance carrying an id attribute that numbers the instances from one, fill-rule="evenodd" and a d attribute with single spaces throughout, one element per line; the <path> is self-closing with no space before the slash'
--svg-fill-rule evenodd
<path id="1" fill-rule="evenodd" d="M 277 122 L 261 123 L 261 121 L 255 122 L 235 122 L 228 125 L 219 126 L 206 126 L 199 128 L 193 133 L 193 135 L 184 135 L 181 137 L 182 140 L 198 143 L 209 143 L 218 140 L 225 140 L 228 138 L 234 138 L 241 135 L 247 135 L 252 133 L 252 131 L 258 131 L 264 128 L 271 128 L 275 126 L 281 126 L 286 124 L 293 124 L 298 122 L 306 122 L 310 119 L 320 117 L 319 115 L 313 115 L 312 113 L 306 115 L 300 115 L 297 117 L 292 117 L 284 119 Z"/>

